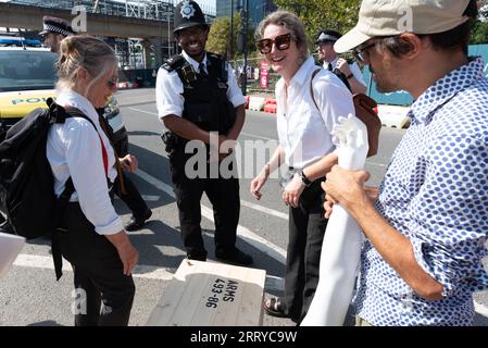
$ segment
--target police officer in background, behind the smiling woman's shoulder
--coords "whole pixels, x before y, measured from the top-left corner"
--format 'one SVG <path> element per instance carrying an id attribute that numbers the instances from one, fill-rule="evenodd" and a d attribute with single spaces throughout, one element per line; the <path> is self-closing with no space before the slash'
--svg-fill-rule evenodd
<path id="1" fill-rule="evenodd" d="M 336 30 L 321 30 L 315 41 L 318 59 L 322 61 L 323 67 L 335 72 L 353 95 L 364 94 L 366 92 L 366 83 L 358 64 L 339 58 L 334 50 L 334 44 L 340 37 L 341 35 Z"/>

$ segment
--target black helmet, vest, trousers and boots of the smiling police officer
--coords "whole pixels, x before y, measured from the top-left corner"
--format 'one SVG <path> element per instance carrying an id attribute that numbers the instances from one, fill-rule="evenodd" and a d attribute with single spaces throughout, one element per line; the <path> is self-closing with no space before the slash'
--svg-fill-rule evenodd
<path id="1" fill-rule="evenodd" d="M 195 1 L 185 0 L 175 8 L 174 32 L 193 26 L 208 26 L 203 12 Z M 168 59 L 162 66 L 168 72 L 176 72 L 184 86 L 183 119 L 207 132 L 218 132 L 226 135 L 236 120 L 234 104 L 227 98 L 227 62 L 217 54 L 207 53 L 207 72 L 200 69 L 197 73 L 183 55 Z M 230 177 L 222 173 L 211 176 L 211 167 L 220 167 L 220 163 L 207 161 L 205 176 L 189 178 L 185 165 L 192 153 L 185 153 L 188 142 L 176 134 L 163 135 L 166 151 L 170 156 L 172 181 L 178 206 L 179 223 L 187 256 L 195 260 L 207 260 L 200 222 L 200 200 L 203 192 L 209 197 L 215 222 L 215 257 L 223 261 L 239 264 L 251 264 L 252 258 L 235 247 L 237 225 L 240 212 L 239 181 L 234 161 L 229 161 Z M 209 159 L 209 146 L 201 144 Z M 201 149 L 202 150 L 202 149 Z M 233 154 L 229 154 L 233 156 Z M 226 159 L 228 160 L 228 159 Z M 227 162 L 227 161 L 226 161 Z M 203 169 L 198 169 L 202 171 Z"/>

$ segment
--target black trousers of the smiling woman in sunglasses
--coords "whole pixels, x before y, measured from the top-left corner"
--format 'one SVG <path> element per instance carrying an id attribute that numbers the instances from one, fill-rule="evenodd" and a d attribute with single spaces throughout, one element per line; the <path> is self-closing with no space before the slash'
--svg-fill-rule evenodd
<path id="1" fill-rule="evenodd" d="M 318 284 L 322 241 L 327 220 L 324 217 L 324 191 L 315 181 L 300 196 L 299 207 L 289 209 L 289 236 L 286 257 L 286 313 L 293 321 L 306 314 Z"/>

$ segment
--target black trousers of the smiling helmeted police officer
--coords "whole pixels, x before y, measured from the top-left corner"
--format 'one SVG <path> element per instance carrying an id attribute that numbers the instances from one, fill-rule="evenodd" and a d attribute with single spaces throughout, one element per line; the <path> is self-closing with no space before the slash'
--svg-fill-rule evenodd
<path id="1" fill-rule="evenodd" d="M 213 207 L 215 248 L 234 248 L 240 212 L 239 179 L 232 165 L 230 171 L 234 175 L 230 178 L 224 178 L 220 174 L 216 178 L 188 178 L 185 164 L 190 157 L 191 154 L 182 153 L 182 151 L 170 157 L 172 181 L 186 251 L 193 257 L 207 257 L 200 227 L 202 195 L 207 194 Z M 211 164 L 207 163 L 207 165 L 205 170 L 209 174 Z"/>

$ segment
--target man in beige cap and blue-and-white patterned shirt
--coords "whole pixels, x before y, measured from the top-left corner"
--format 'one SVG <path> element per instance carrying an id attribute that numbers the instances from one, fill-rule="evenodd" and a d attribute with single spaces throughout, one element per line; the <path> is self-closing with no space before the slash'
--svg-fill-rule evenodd
<path id="1" fill-rule="evenodd" d="M 467 57 L 476 16 L 474 0 L 365 0 L 335 45 L 370 65 L 378 90 L 415 100 L 379 190 L 337 165 L 323 184 L 326 215 L 340 203 L 366 237 L 359 325 L 472 325 L 473 293 L 488 288 L 488 80 Z"/>

